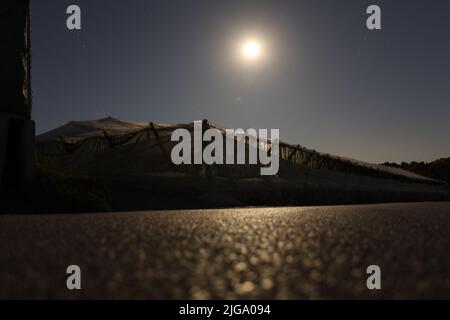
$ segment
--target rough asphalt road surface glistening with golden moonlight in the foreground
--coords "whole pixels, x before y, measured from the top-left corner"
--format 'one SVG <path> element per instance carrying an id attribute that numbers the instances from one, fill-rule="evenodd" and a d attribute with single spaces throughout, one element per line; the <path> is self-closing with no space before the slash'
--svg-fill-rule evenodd
<path id="1" fill-rule="evenodd" d="M 450 298 L 450 203 L 4 215 L 0 298 Z"/>

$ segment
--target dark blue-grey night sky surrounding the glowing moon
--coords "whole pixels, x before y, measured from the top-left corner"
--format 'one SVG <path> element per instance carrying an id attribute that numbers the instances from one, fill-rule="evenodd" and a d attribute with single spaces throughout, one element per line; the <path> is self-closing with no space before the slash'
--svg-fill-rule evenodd
<path id="1" fill-rule="evenodd" d="M 66 28 L 66 8 L 82 30 Z M 382 9 L 382 30 L 366 8 Z M 32 0 L 38 133 L 207 118 L 370 162 L 450 156 L 450 1 Z M 236 48 L 257 37 L 263 56 Z"/>

